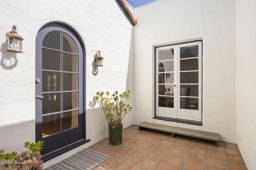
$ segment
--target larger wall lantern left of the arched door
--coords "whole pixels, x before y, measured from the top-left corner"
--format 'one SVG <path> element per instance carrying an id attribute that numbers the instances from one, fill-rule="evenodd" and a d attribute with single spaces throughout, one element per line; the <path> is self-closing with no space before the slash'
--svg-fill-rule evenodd
<path id="1" fill-rule="evenodd" d="M 23 53 L 22 41 L 24 39 L 17 34 L 16 26 L 12 27 L 12 31 L 6 33 L 7 49 L 6 51 L 14 53 Z"/>

